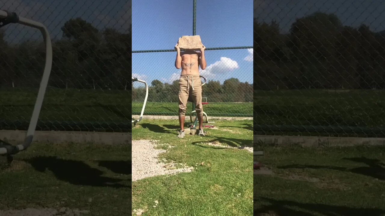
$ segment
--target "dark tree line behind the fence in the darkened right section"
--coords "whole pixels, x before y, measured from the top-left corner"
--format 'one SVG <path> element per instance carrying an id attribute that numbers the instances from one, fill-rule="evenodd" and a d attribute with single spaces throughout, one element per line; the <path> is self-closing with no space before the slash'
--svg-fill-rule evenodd
<path id="1" fill-rule="evenodd" d="M 298 18 L 286 34 L 275 21 L 254 20 L 254 87 L 385 89 L 384 33 L 321 12 Z"/>

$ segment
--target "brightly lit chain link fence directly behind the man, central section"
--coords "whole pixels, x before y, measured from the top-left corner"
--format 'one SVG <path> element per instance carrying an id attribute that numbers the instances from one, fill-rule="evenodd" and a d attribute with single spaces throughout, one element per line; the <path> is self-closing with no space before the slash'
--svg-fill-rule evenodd
<path id="1" fill-rule="evenodd" d="M 182 35 L 200 35 L 207 47 L 207 66 L 200 70 L 207 79 L 202 90 L 203 102 L 208 102 L 204 112 L 208 116 L 253 116 L 253 2 L 221 1 L 219 6 L 215 2 L 152 2 L 156 11 L 147 3 L 133 2 L 132 76 L 149 85 L 144 115 L 178 115 L 181 70 L 174 66 L 174 46 Z M 236 7 L 243 9 L 233 10 Z M 182 11 L 183 16 L 170 10 Z M 133 115 L 140 114 L 145 94 L 143 83 L 132 83 Z M 188 103 L 186 115 L 190 111 L 192 104 Z"/>

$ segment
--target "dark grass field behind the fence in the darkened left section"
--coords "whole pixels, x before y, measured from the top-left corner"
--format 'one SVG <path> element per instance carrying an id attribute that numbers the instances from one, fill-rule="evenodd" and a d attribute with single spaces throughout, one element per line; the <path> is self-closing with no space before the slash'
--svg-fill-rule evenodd
<path id="1" fill-rule="evenodd" d="M 29 121 L 37 89 L 0 91 L 0 120 Z M 127 123 L 131 118 L 131 91 L 49 88 L 40 121 Z"/>

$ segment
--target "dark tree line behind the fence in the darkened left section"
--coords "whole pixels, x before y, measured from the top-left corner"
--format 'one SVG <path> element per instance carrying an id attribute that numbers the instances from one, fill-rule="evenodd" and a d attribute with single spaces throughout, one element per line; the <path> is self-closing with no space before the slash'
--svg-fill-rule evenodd
<path id="1" fill-rule="evenodd" d="M 131 27 L 98 30 L 81 18 L 61 27 L 63 37 L 52 40 L 49 86 L 56 88 L 130 89 Z M 26 40 L 10 45 L 0 32 L 0 88 L 39 86 L 45 63 L 43 42 Z"/>

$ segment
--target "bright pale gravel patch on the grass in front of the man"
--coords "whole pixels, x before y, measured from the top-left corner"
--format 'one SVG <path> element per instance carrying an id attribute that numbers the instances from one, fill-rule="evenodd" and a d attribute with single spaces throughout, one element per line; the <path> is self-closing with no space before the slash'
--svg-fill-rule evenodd
<path id="1" fill-rule="evenodd" d="M 166 152 L 163 149 L 155 149 L 159 140 L 132 140 L 132 181 L 158 175 L 171 175 L 182 172 L 191 172 L 194 167 L 187 167 L 186 164 L 164 163 L 157 159 L 160 153 Z M 172 146 L 168 144 L 168 148 Z M 181 166 L 182 168 L 176 168 Z"/>

